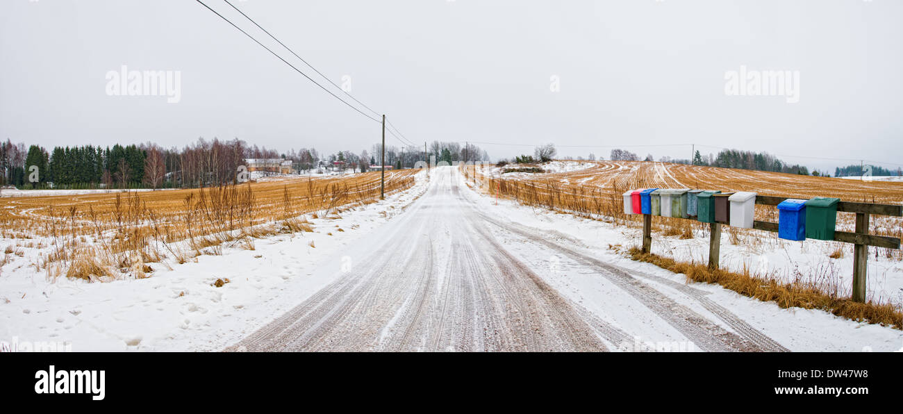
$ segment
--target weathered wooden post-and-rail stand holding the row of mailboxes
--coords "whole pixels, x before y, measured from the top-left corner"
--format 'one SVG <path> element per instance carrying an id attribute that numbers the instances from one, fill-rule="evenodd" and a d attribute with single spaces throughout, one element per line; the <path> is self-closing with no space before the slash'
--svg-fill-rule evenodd
<path id="1" fill-rule="evenodd" d="M 808 197 L 757 195 L 756 204 L 777 206 L 777 204 L 788 198 L 806 199 Z M 900 240 L 898 238 L 869 234 L 870 216 L 875 214 L 901 217 L 903 216 L 903 206 L 896 204 L 874 204 L 869 202 L 838 202 L 837 212 L 852 212 L 856 214 L 855 231 L 834 231 L 834 240 L 853 244 L 852 299 L 857 302 L 865 302 L 865 282 L 867 279 L 867 264 L 869 259 L 868 247 L 876 246 L 885 249 L 900 248 Z M 724 221 L 710 223 L 709 268 L 712 269 L 719 267 L 722 224 L 728 223 Z M 752 228 L 756 230 L 771 232 L 777 232 L 777 227 L 778 224 L 776 222 L 770 221 L 754 221 L 752 226 Z M 652 215 L 645 214 L 643 218 L 643 252 L 648 253 L 651 247 Z"/>

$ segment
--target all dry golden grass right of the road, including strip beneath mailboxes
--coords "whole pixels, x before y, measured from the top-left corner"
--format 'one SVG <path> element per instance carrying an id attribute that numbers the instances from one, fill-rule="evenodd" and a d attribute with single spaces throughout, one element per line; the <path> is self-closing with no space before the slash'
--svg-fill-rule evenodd
<path id="1" fill-rule="evenodd" d="M 722 192 L 750 191 L 763 195 L 837 197 L 850 202 L 903 203 L 903 183 L 862 182 L 841 178 L 813 177 L 796 174 L 780 174 L 728 168 L 694 165 L 676 165 L 655 162 L 600 161 L 578 171 L 552 174 L 519 174 L 516 176 L 489 176 L 485 169 L 475 170 L 473 166 L 462 168 L 465 175 L 477 174 L 484 183 L 487 193 L 497 194 L 517 202 L 541 207 L 556 212 L 568 212 L 596 220 L 610 221 L 619 225 L 640 227 L 638 215 L 623 212 L 622 194 L 637 188 L 697 188 L 721 190 Z M 777 209 L 773 206 L 756 206 L 756 220 L 777 222 Z M 891 237 L 901 237 L 903 220 L 898 217 L 873 216 L 870 233 Z M 854 214 L 838 213 L 838 229 L 852 231 Z M 654 217 L 653 230 L 665 236 L 680 236 L 682 239 L 694 237 L 695 232 L 704 233 L 708 225 L 693 220 L 669 217 Z M 744 244 L 752 249 L 774 240 L 777 235 L 752 229 L 727 228 L 727 237 L 732 244 Z M 888 259 L 903 260 L 899 249 L 872 248 L 875 254 L 883 252 Z M 872 324 L 892 325 L 900 328 L 899 305 L 888 301 L 856 303 L 842 297 L 842 289 L 836 280 L 827 277 L 814 278 L 815 282 L 791 281 L 781 283 L 773 278 L 760 278 L 746 273 L 731 273 L 724 270 L 709 270 L 694 263 L 677 262 L 652 254 L 642 254 L 638 250 L 629 253 L 633 259 L 648 261 L 659 267 L 677 273 L 684 273 L 694 281 L 718 283 L 746 296 L 765 301 L 774 301 L 779 306 L 799 306 L 818 308 L 857 321 Z M 833 250 L 833 259 L 841 258 L 842 248 Z"/>

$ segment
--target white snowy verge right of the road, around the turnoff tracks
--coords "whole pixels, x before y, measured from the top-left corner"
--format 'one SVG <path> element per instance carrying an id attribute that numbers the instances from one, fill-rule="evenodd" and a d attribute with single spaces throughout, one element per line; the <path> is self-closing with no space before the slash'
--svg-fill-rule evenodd
<path id="1" fill-rule="evenodd" d="M 470 183 L 468 182 L 468 186 Z M 684 275 L 675 274 L 655 265 L 638 262 L 624 257 L 610 249 L 610 245 L 621 245 L 625 248 L 638 245 L 640 232 L 636 229 L 628 229 L 606 223 L 604 221 L 592 221 L 582 219 L 570 214 L 549 212 L 544 209 L 535 209 L 517 204 L 508 200 L 498 200 L 494 197 L 482 196 L 472 191 L 462 192 L 473 202 L 478 209 L 500 221 L 514 222 L 535 229 L 536 234 L 544 235 L 546 240 L 567 245 L 574 249 L 580 249 L 593 258 L 606 263 L 627 269 L 632 275 L 644 283 L 655 287 L 656 290 L 666 294 L 676 302 L 687 306 L 700 315 L 711 315 L 700 306 L 698 300 L 686 296 L 675 288 L 668 286 L 670 282 L 685 284 Z M 500 240 L 507 240 L 510 236 L 506 231 L 492 230 Z M 673 240 L 672 240 L 673 239 Z M 733 251 L 735 257 L 741 257 L 740 248 L 732 246 L 730 241 L 722 237 L 722 259 L 725 263 L 725 252 Z M 688 241 L 696 243 L 698 240 L 677 240 L 676 238 L 664 238 L 659 235 L 653 238 L 653 251 L 662 252 L 664 249 L 675 249 L 674 244 Z M 522 242 L 505 242 L 505 245 L 519 259 L 530 264 L 534 269 L 546 269 L 539 273 L 550 285 L 556 288 L 562 295 L 571 299 L 574 303 L 581 304 L 587 310 L 595 313 L 604 320 L 614 325 L 632 324 L 633 330 L 647 332 L 648 335 L 664 332 L 656 327 L 656 321 L 649 318 L 632 317 L 604 313 L 600 309 L 612 301 L 624 302 L 629 305 L 623 293 L 619 295 L 618 289 L 612 289 L 592 268 L 585 264 L 573 261 L 560 254 L 550 256 L 548 249 L 530 246 Z M 707 241 L 705 248 L 707 249 Z M 684 245 L 693 253 L 693 247 Z M 729 253 L 731 254 L 731 253 Z M 787 253 L 794 260 L 793 252 Z M 696 258 L 698 259 L 698 258 Z M 770 266 L 779 266 L 772 260 Z M 871 260 L 870 260 L 871 261 Z M 879 260 L 880 262 L 880 260 Z M 873 272 L 870 268 L 870 272 Z M 874 273 L 871 273 L 874 274 Z M 802 308 L 782 309 L 774 303 L 762 302 L 748 296 L 741 296 L 729 289 L 717 285 L 694 283 L 696 289 L 707 293 L 709 299 L 729 309 L 733 314 L 752 325 L 763 334 L 781 343 L 791 351 L 844 351 L 861 352 L 876 351 L 889 352 L 903 349 L 903 332 L 880 325 L 856 323 L 848 319 L 840 318 L 824 311 L 807 310 Z M 608 306 L 610 307 L 610 306 Z M 629 311 L 625 311 L 629 312 Z M 634 314 L 635 316 L 638 314 Z M 717 318 L 712 318 L 717 320 Z M 731 332 L 729 325 L 720 325 Z M 646 327 L 647 329 L 640 329 Z M 673 341 L 674 337 L 642 337 L 641 341 Z"/>

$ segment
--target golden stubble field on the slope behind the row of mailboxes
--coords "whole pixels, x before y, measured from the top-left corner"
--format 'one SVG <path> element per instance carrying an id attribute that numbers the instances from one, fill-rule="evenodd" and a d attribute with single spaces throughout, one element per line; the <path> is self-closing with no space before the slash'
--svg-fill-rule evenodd
<path id="1" fill-rule="evenodd" d="M 584 217 L 604 218 L 630 226 L 638 226 L 638 216 L 625 215 L 621 194 L 637 188 L 697 188 L 721 192 L 748 191 L 763 195 L 810 198 L 836 197 L 847 202 L 903 203 L 903 183 L 863 182 L 831 177 L 769 173 L 697 165 L 681 165 L 639 161 L 597 161 L 590 168 L 552 174 L 522 174 L 517 177 L 484 177 L 489 193 L 513 198 L 517 202 L 571 212 Z M 474 168 L 464 169 L 470 176 Z M 756 220 L 777 222 L 777 209 L 757 205 Z M 687 224 L 689 223 L 689 224 Z M 687 229 L 687 225 L 690 226 Z M 653 221 L 656 231 L 669 234 L 692 234 L 704 231 L 703 223 L 666 217 Z M 855 215 L 839 212 L 837 228 L 853 231 Z M 676 230 L 675 230 L 676 229 Z M 731 237 L 757 234 L 759 231 L 733 229 Z M 870 233 L 903 238 L 903 219 L 872 216 Z M 686 236 L 684 236 L 686 237 Z M 751 239 L 751 238 L 748 238 Z M 898 249 L 880 249 L 888 258 L 903 259 Z"/>

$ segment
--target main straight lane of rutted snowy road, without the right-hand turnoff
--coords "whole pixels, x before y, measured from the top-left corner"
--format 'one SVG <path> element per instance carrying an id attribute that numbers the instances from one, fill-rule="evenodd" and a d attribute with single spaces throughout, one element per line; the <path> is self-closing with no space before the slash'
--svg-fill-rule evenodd
<path id="1" fill-rule="evenodd" d="M 606 351 L 605 331 L 485 231 L 452 183 L 377 230 L 362 260 L 228 350 Z M 469 216 L 470 215 L 470 216 Z M 448 235 L 445 240 L 435 234 Z M 447 248 L 446 246 L 447 241 Z"/>

